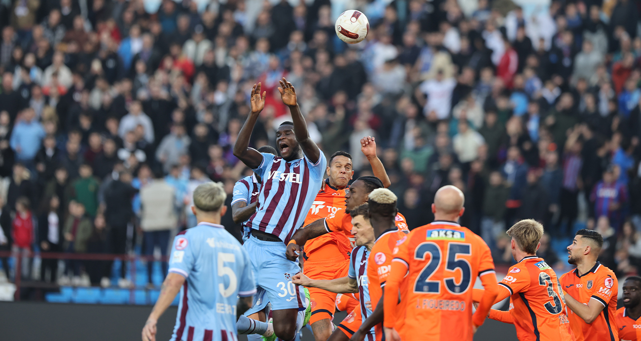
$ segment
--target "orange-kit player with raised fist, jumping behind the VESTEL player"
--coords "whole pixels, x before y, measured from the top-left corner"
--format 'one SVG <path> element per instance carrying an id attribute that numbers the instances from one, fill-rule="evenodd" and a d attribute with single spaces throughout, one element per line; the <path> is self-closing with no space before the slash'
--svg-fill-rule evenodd
<path id="1" fill-rule="evenodd" d="M 361 139 L 361 151 L 372 166 L 374 175 L 381 179 L 383 187 L 390 186 L 383 163 L 376 156 L 374 138 L 366 136 Z M 326 173 L 328 178 L 317 194 L 305 218 L 304 226 L 345 210 L 345 195 L 349 192 L 347 184 L 354 175 L 352 156 L 346 152 L 335 152 L 329 158 Z M 349 215 L 345 214 L 345 216 Z M 304 274 L 314 280 L 344 278 L 347 276 L 349 255 L 353 248 L 353 238 L 349 239 L 344 232 L 340 231 L 308 240 L 303 248 Z M 310 324 L 314 338 L 317 341 L 327 340 L 332 333 L 331 321 L 334 317 L 337 294 L 317 287 L 310 287 L 308 290 L 312 301 Z M 342 299 L 347 300 L 348 313 L 358 305 L 358 301 L 352 297 L 343 296 Z"/>

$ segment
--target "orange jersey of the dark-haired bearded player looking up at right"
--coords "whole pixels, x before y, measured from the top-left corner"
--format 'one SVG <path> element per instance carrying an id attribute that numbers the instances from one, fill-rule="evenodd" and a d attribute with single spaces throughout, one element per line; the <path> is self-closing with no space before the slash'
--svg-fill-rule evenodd
<path id="1" fill-rule="evenodd" d="M 594 299 L 604 306 L 603 311 L 590 324 L 585 323 L 579 315 L 569 310 L 570 327 L 577 341 L 619 340 L 619 329 L 615 321 L 619 282 L 612 270 L 596 262 L 590 271 L 581 276 L 577 269 L 563 274 L 561 285 L 563 290 L 579 303 L 587 305 L 591 299 Z"/>

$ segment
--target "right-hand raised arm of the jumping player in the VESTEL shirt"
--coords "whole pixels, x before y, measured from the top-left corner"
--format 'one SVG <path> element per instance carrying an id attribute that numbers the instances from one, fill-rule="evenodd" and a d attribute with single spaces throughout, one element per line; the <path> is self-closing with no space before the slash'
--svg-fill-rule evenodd
<path id="1" fill-rule="evenodd" d="M 283 103 L 289 107 L 289 110 L 292 113 L 292 122 L 294 122 L 294 134 L 296 134 L 296 141 L 301 144 L 303 153 L 307 158 L 315 164 L 320 159 L 320 149 L 316 143 L 312 141 L 310 133 L 307 131 L 307 123 L 305 123 L 305 118 L 303 117 L 301 108 L 298 107 L 298 102 L 296 100 L 296 90 L 292 83 L 289 83 L 285 77 L 283 77 L 279 82 L 281 86 L 278 87 L 278 91 L 281 93 L 281 99 L 283 100 Z M 240 136 L 238 136 L 238 138 L 240 138 Z"/>

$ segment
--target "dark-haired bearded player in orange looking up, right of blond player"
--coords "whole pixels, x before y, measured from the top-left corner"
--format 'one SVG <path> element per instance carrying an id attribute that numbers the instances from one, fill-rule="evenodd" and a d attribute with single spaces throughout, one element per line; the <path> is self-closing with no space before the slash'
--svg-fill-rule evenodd
<path id="1" fill-rule="evenodd" d="M 615 322 L 619 283 L 612 270 L 597 262 L 602 247 L 601 234 L 585 228 L 567 247 L 567 262 L 576 269 L 561 276 L 561 285 L 577 341 L 619 340 Z"/>

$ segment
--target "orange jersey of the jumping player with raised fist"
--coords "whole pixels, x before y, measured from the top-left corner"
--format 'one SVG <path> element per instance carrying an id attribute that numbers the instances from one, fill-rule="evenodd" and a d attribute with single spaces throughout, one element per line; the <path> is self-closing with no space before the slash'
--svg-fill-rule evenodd
<path id="1" fill-rule="evenodd" d="M 303 226 L 310 225 L 318 219 L 326 218 L 338 212 L 345 212 L 345 191 L 349 191 L 349 189 L 337 189 L 330 186 L 328 182 L 325 190 L 319 191 L 316 195 Z M 347 216 L 349 217 L 349 214 Z M 305 260 L 322 261 L 326 258 L 344 255 L 345 259 L 349 259 L 349 251 L 351 250 L 352 248 L 345 234 L 335 232 L 307 241 L 303 248 L 303 257 Z"/>

